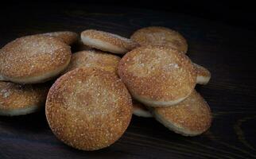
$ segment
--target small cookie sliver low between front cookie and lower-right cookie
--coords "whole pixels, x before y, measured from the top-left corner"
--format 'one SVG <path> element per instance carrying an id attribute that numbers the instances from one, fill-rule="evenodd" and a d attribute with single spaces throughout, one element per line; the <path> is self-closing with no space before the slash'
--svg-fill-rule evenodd
<path id="1" fill-rule="evenodd" d="M 148 109 L 135 99 L 133 99 L 133 114 L 144 118 L 152 117 L 152 114 L 148 111 Z"/>

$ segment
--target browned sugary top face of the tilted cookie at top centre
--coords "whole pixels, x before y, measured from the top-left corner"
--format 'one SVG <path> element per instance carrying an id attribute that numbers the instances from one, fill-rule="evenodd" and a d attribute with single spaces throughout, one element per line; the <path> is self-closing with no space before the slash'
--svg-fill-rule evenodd
<path id="1" fill-rule="evenodd" d="M 104 41 L 120 48 L 126 48 L 127 51 L 138 47 L 137 42 L 127 39 L 126 37 L 121 37 L 114 33 L 107 33 L 95 29 L 87 29 L 81 33 L 81 36 Z"/>

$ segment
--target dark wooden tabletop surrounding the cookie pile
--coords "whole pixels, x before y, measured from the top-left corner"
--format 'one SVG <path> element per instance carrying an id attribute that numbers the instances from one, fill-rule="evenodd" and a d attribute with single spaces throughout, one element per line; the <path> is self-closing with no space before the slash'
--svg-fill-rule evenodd
<path id="1" fill-rule="evenodd" d="M 208 101 L 213 122 L 198 137 L 174 134 L 153 118 L 133 117 L 118 142 L 83 152 L 59 142 L 45 112 L 0 117 L 0 158 L 256 158 L 256 37 L 252 31 L 156 10 L 56 4 L 2 7 L 0 46 L 16 37 L 56 30 L 102 29 L 129 37 L 163 25 L 188 40 L 188 56 L 211 71 L 196 89 Z"/>

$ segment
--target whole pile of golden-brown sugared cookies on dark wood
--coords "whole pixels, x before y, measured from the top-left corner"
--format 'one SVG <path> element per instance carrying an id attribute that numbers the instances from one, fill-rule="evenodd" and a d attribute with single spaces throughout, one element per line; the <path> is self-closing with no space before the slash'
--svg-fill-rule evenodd
<path id="1" fill-rule="evenodd" d="M 76 41 L 83 50 L 72 54 Z M 53 134 L 83 150 L 113 144 L 132 114 L 185 136 L 202 134 L 211 111 L 195 86 L 211 73 L 187 51 L 184 37 L 164 27 L 139 29 L 130 39 L 94 29 L 80 41 L 72 32 L 18 38 L 0 49 L 0 114 L 45 107 Z"/>

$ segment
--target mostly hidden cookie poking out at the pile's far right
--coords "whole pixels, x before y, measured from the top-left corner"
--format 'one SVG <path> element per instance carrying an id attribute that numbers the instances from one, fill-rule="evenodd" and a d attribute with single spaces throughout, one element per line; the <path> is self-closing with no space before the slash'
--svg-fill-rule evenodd
<path id="1" fill-rule="evenodd" d="M 194 66 L 196 68 L 196 83 L 198 84 L 207 84 L 209 80 L 211 79 L 211 72 L 207 68 L 204 68 L 203 66 L 200 66 L 198 64 L 194 63 Z"/>

